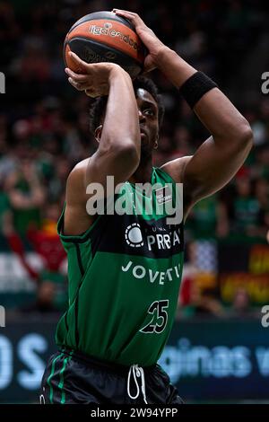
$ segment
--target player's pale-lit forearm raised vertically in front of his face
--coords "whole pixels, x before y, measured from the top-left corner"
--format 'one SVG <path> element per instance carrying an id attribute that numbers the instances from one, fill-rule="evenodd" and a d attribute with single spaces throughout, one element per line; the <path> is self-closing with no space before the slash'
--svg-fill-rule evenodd
<path id="1" fill-rule="evenodd" d="M 140 130 L 132 80 L 122 69 L 111 72 L 101 143 L 107 148 L 134 147 L 140 154 Z"/>

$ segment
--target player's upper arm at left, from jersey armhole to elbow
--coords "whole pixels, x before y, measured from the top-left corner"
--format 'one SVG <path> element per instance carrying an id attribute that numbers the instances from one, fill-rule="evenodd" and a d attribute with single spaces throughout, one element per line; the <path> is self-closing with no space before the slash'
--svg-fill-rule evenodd
<path id="1" fill-rule="evenodd" d="M 111 197 L 117 184 L 134 171 L 133 153 L 126 145 L 124 151 L 98 151 L 74 167 L 66 183 L 65 234 L 77 235 L 89 228 L 100 209 L 98 201 L 103 207 L 102 199 Z"/>

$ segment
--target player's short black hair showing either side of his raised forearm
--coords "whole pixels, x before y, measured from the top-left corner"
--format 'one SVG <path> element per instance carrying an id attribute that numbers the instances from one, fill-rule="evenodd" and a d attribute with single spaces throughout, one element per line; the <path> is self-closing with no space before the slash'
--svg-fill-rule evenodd
<path id="1" fill-rule="evenodd" d="M 161 128 L 163 115 L 164 115 L 164 104 L 162 101 L 161 94 L 158 92 L 157 86 L 153 83 L 152 79 L 149 79 L 144 76 L 137 76 L 133 82 L 134 85 L 134 92 L 136 94 L 139 88 L 143 88 L 143 90 L 150 92 L 153 99 L 157 102 L 158 106 L 158 121 L 159 121 L 159 129 Z M 108 96 L 103 96 L 96 98 L 91 104 L 90 110 L 90 129 L 91 132 L 94 134 L 95 129 L 100 126 L 101 118 L 104 114 L 106 105 L 108 101 Z"/>

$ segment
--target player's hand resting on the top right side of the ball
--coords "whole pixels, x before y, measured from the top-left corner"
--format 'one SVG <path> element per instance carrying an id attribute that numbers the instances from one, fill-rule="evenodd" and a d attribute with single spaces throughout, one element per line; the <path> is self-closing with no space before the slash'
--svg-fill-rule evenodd
<path id="1" fill-rule="evenodd" d="M 157 67 L 157 59 L 163 48 L 166 46 L 159 40 L 154 32 L 146 26 L 141 17 L 134 12 L 128 12 L 126 10 L 113 9 L 114 13 L 118 16 L 126 18 L 128 21 L 133 23 L 135 31 L 138 37 L 142 40 L 144 46 L 148 49 L 149 54 L 144 60 L 144 72 L 150 72 Z"/>

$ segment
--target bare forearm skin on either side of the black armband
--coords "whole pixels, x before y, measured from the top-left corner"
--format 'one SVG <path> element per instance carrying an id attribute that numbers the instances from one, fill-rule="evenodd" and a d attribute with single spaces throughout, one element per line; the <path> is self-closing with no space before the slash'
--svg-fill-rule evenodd
<path id="1" fill-rule="evenodd" d="M 169 48 L 162 48 L 157 63 L 161 72 L 177 88 L 197 72 Z M 251 139 L 251 129 L 247 120 L 218 88 L 206 92 L 195 104 L 194 111 L 213 135 L 215 142 L 226 143 L 231 140 L 247 142 Z"/>

